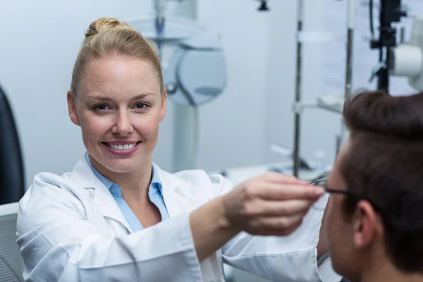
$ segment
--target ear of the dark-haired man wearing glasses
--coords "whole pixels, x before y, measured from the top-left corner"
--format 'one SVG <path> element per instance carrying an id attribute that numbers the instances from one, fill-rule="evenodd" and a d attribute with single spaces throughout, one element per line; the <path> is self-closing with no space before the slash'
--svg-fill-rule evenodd
<path id="1" fill-rule="evenodd" d="M 369 246 L 375 240 L 379 233 L 379 224 L 376 212 L 372 204 L 366 200 L 360 200 L 357 203 L 356 214 L 354 216 L 354 244 L 358 249 Z"/>

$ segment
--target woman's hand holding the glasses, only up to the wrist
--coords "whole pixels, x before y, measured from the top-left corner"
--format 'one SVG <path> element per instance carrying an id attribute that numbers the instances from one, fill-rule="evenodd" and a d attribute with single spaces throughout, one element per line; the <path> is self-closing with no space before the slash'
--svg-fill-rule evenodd
<path id="1" fill-rule="evenodd" d="M 228 225 L 252 235 L 288 235 L 300 226 L 323 188 L 293 176 L 266 173 L 223 196 Z"/>

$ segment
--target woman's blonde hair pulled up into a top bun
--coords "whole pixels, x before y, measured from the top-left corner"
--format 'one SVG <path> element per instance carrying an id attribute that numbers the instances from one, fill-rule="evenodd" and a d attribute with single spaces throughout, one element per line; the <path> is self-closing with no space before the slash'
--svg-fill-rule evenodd
<path id="1" fill-rule="evenodd" d="M 157 48 L 140 32 L 116 18 L 99 18 L 90 24 L 73 67 L 71 91 L 74 94 L 77 93 L 78 85 L 90 59 L 104 59 L 110 55 L 150 61 L 159 75 L 160 91 L 163 93 L 163 75 Z"/>

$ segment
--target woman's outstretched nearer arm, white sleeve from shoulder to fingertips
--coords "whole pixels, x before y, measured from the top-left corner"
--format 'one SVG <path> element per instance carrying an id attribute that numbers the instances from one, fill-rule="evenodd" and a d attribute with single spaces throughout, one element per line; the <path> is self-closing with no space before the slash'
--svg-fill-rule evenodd
<path id="1" fill-rule="evenodd" d="M 24 278 L 200 281 L 199 261 L 239 231 L 281 235 L 300 224 L 318 188 L 275 176 L 254 178 L 191 214 L 118 237 L 104 235 L 104 223 L 85 220 L 85 207 L 70 192 L 54 185 L 32 187 L 18 214 Z"/>

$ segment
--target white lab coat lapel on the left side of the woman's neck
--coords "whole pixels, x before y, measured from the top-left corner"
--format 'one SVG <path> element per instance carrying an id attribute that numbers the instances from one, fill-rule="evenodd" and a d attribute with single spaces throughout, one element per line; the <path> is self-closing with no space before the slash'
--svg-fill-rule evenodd
<path id="1" fill-rule="evenodd" d="M 119 221 L 128 229 L 128 232 L 133 233 L 132 228 L 130 228 L 128 221 L 125 219 L 125 216 L 123 216 L 111 192 L 102 181 L 94 175 L 85 157 L 76 164 L 71 174 L 71 180 L 80 188 L 85 188 L 85 190 L 94 189 L 94 202 L 97 204 L 102 215 Z"/>

